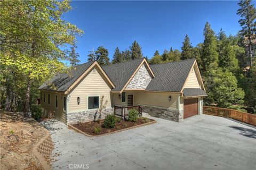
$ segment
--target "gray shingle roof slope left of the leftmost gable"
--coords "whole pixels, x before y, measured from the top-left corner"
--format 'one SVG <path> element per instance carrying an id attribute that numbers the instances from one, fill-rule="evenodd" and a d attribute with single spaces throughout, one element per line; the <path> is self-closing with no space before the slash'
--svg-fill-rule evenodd
<path id="1" fill-rule="evenodd" d="M 61 73 L 55 75 L 51 80 L 42 84 L 41 90 L 66 91 L 94 62 L 88 62 L 75 66 L 70 73 Z M 53 88 L 54 87 L 54 88 Z"/>

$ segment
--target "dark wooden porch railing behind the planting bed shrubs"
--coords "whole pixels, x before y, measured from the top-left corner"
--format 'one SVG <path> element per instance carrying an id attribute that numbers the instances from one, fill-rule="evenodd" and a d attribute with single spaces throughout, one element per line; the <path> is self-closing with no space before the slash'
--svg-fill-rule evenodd
<path id="1" fill-rule="evenodd" d="M 127 107 L 115 106 L 114 114 L 121 116 L 122 118 L 125 119 L 127 117 L 127 114 L 129 113 L 130 109 L 132 109 L 132 108 L 139 112 L 139 116 L 142 115 L 142 108 L 140 106 L 127 106 Z"/>

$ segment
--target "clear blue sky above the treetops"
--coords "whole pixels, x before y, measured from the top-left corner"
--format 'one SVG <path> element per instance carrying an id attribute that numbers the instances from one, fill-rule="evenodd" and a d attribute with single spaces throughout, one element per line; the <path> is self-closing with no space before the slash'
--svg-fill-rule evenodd
<path id="1" fill-rule="evenodd" d="M 238 1 L 73 1 L 73 10 L 63 19 L 84 30 L 78 37 L 80 63 L 87 62 L 88 51 L 104 46 L 109 58 L 115 48 L 129 49 L 137 40 L 144 56 L 158 50 L 179 49 L 188 34 L 193 46 L 203 41 L 205 22 L 218 32 L 236 35 Z"/>

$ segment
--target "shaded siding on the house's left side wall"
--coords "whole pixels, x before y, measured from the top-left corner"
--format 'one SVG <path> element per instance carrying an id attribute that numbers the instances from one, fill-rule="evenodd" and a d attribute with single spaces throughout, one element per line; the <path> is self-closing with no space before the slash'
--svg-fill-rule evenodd
<path id="1" fill-rule="evenodd" d="M 41 101 L 41 106 L 49 113 L 53 114 L 55 118 L 57 118 L 59 121 L 63 122 L 66 124 L 67 120 L 67 114 L 65 111 L 63 111 L 64 107 L 64 102 L 63 102 L 63 97 L 64 95 L 55 93 L 55 92 L 44 92 L 41 91 L 42 93 L 42 101 Z M 45 102 L 44 102 L 44 94 L 45 94 Z M 48 104 L 48 94 L 50 94 L 50 105 Z M 55 107 L 55 95 L 58 95 L 58 108 Z"/>

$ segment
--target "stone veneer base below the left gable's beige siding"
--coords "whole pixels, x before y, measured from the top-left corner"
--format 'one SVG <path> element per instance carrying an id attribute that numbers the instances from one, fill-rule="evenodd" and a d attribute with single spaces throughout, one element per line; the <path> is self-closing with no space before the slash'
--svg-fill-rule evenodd
<path id="1" fill-rule="evenodd" d="M 67 124 L 76 124 L 76 123 L 93 121 L 94 115 L 96 112 L 97 110 L 68 113 Z M 112 114 L 112 113 L 113 113 L 113 109 L 107 108 L 105 111 L 101 113 L 101 119 L 105 118 L 106 115 Z"/>

